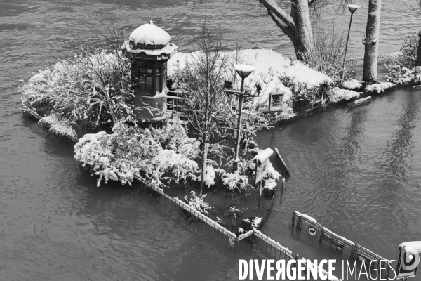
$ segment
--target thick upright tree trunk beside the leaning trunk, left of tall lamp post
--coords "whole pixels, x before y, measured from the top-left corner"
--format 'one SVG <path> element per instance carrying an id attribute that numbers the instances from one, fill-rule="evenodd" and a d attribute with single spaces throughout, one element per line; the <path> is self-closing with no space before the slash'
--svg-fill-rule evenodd
<path id="1" fill-rule="evenodd" d="M 313 43 L 312 21 L 308 0 L 293 0 L 295 8 L 292 15 L 295 19 L 295 37 L 297 38 L 297 49 L 295 55 L 298 60 L 305 60 Z"/>

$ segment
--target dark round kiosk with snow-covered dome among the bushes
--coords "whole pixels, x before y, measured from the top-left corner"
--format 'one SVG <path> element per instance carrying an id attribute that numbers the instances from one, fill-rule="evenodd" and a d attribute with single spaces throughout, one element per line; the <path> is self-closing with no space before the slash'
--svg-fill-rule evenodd
<path id="1" fill-rule="evenodd" d="M 166 119 L 167 63 L 178 48 L 170 40 L 170 35 L 150 20 L 136 28 L 121 46 L 123 54 L 131 60 L 135 113 L 141 122 Z"/>

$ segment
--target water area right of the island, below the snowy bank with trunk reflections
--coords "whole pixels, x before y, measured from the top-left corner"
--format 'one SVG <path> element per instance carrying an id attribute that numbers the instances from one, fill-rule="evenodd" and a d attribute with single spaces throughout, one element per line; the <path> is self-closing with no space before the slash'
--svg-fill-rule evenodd
<path id="1" fill-rule="evenodd" d="M 293 211 L 300 211 L 397 260 L 401 242 L 421 238 L 420 105 L 420 93 L 399 89 L 360 107 L 345 104 L 262 132 L 260 146 L 277 147 L 291 174 L 265 233 L 307 259 L 335 256 L 290 235 Z"/>

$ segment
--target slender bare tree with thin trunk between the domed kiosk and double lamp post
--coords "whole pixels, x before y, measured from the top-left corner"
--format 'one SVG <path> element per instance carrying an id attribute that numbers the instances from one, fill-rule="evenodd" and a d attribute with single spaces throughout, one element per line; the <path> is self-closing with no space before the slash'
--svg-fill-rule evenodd
<path id="1" fill-rule="evenodd" d="M 228 55 L 220 27 L 211 29 L 203 25 L 195 43 L 199 51 L 186 58 L 185 67 L 175 79 L 185 98 L 184 112 L 189 124 L 201 138 L 203 190 L 208 142 L 218 132 L 218 120 L 226 111 L 222 94 Z"/>

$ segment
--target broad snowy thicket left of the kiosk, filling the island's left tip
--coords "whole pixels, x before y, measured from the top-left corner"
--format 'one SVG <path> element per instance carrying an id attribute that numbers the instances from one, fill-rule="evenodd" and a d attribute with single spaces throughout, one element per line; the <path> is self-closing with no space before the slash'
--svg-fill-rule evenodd
<path id="1" fill-rule="evenodd" d="M 24 107 L 53 111 L 72 124 L 113 126 L 133 114 L 131 65 L 121 51 L 93 46 L 39 70 L 20 89 Z"/>

